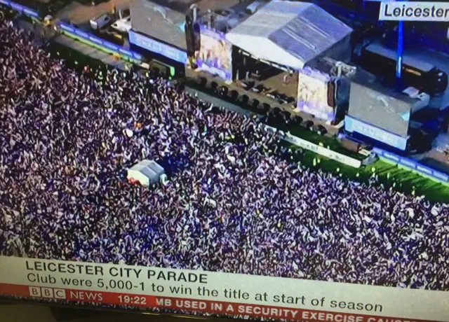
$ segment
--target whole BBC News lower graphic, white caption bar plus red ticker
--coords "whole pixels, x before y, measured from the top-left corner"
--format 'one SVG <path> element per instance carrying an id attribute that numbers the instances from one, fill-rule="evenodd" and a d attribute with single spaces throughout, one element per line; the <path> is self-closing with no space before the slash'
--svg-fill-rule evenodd
<path id="1" fill-rule="evenodd" d="M 0 295 L 293 321 L 449 321 L 443 291 L 7 256 Z"/>

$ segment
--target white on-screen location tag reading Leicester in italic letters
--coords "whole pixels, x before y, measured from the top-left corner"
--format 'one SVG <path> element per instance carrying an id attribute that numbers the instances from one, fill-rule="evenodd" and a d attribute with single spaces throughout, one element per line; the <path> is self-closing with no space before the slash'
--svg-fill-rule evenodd
<path id="1" fill-rule="evenodd" d="M 383 1 L 379 20 L 449 21 L 449 3 Z"/>

